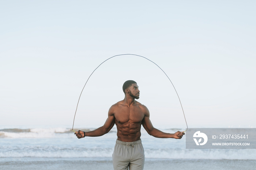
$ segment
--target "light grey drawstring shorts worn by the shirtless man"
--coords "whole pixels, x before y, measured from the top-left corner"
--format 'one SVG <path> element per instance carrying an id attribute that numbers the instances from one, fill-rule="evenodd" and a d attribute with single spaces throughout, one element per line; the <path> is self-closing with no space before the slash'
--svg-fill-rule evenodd
<path id="1" fill-rule="evenodd" d="M 116 140 L 112 155 L 114 170 L 143 170 L 145 155 L 141 140 L 123 142 Z"/>

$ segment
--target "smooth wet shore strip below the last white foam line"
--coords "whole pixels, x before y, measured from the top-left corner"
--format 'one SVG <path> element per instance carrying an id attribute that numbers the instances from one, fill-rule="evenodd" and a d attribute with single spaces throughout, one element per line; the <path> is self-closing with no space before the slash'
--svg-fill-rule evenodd
<path id="1" fill-rule="evenodd" d="M 112 170 L 111 158 L 22 158 L 0 162 L 2 170 Z M 144 170 L 254 170 L 255 160 L 149 159 Z"/>

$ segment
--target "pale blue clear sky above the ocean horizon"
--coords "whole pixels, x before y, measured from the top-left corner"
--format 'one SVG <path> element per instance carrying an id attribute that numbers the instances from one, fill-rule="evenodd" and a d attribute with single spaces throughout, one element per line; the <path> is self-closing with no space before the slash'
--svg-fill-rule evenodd
<path id="1" fill-rule="evenodd" d="M 0 126 L 67 127 L 90 74 L 136 54 L 180 97 L 188 128 L 256 127 L 255 1 L 2 1 Z M 155 127 L 186 128 L 154 63 L 92 74 L 74 128 L 99 127 L 135 80 Z"/>

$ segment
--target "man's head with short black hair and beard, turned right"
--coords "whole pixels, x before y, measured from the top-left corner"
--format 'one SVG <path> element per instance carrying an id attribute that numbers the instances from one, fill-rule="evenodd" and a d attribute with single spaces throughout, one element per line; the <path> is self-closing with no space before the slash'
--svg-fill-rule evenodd
<path id="1" fill-rule="evenodd" d="M 131 97 L 139 99 L 140 90 L 138 89 L 138 85 L 133 80 L 127 80 L 123 85 L 124 94 L 129 94 Z"/>

